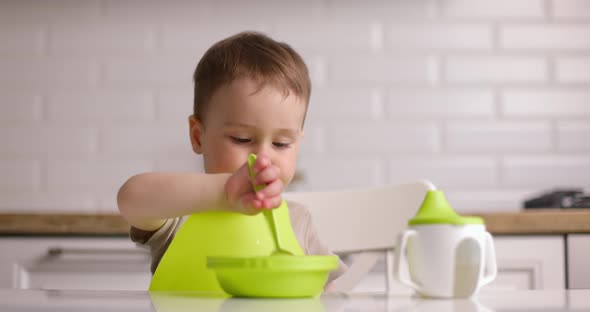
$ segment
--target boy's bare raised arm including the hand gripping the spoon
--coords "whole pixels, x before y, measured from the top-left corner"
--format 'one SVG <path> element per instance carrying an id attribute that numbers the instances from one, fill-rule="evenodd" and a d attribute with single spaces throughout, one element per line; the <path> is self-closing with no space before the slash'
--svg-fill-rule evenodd
<path id="1" fill-rule="evenodd" d="M 119 211 L 135 228 L 154 231 L 166 219 L 211 210 L 256 214 L 260 209 L 280 206 L 283 184 L 279 169 L 260 155 L 251 181 L 245 163 L 233 174 L 143 173 L 121 186 Z M 254 192 L 253 183 L 266 184 Z"/>

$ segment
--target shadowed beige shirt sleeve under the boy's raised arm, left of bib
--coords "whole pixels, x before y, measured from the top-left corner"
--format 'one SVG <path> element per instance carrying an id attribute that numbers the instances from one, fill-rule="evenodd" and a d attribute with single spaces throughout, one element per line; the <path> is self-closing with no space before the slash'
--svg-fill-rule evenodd
<path id="1" fill-rule="evenodd" d="M 174 235 L 184 223 L 186 217 L 167 219 L 164 225 L 156 231 L 144 231 L 136 227 L 131 227 L 129 236 L 131 241 L 136 245 L 149 249 L 152 256 L 151 271 L 156 271 L 162 256 L 168 249 L 168 246 L 174 239 Z"/>

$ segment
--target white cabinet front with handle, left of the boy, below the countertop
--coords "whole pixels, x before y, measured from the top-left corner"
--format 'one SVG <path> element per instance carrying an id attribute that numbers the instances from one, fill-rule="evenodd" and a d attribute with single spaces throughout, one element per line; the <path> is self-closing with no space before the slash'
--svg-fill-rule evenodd
<path id="1" fill-rule="evenodd" d="M 150 256 L 128 237 L 0 237 L 0 288 L 146 290 Z"/>

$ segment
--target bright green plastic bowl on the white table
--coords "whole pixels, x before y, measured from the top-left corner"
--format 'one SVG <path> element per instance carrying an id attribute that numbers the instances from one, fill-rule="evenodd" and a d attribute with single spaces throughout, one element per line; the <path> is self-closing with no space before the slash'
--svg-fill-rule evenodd
<path id="1" fill-rule="evenodd" d="M 322 293 L 337 256 L 207 257 L 221 288 L 236 297 L 305 298 Z"/>

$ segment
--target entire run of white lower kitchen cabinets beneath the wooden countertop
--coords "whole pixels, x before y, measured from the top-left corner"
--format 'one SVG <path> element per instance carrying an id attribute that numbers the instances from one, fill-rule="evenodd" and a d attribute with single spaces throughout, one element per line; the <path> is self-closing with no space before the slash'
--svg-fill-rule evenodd
<path id="1" fill-rule="evenodd" d="M 565 288 L 564 241 L 495 236 L 498 276 L 482 291 Z M 151 280 L 149 253 L 128 237 L 0 237 L 0 251 L 0 288 L 146 290 Z M 590 235 L 570 235 L 568 252 L 570 286 L 589 287 Z M 383 256 L 355 291 L 385 290 L 385 263 Z M 397 282 L 392 291 L 411 292 Z"/>

